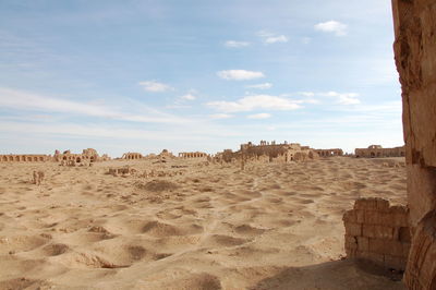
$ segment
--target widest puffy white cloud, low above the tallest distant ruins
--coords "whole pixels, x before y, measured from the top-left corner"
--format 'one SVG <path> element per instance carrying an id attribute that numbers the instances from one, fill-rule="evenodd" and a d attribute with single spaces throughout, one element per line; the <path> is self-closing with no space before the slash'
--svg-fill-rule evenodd
<path id="1" fill-rule="evenodd" d="M 246 96 L 237 101 L 210 101 L 206 105 L 222 112 L 253 111 L 255 109 L 295 110 L 301 108 L 291 99 L 269 95 Z"/>

